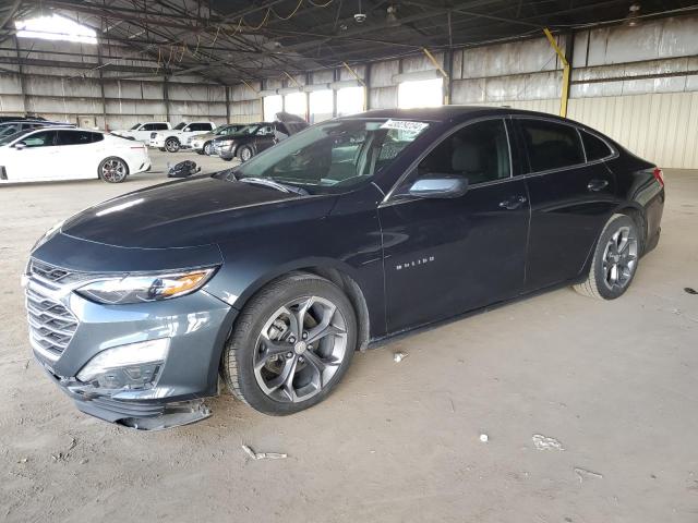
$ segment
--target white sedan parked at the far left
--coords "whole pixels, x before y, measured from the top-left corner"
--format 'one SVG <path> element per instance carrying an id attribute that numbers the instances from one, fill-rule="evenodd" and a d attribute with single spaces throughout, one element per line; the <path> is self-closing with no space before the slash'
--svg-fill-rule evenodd
<path id="1" fill-rule="evenodd" d="M 119 183 L 148 169 L 144 144 L 99 131 L 43 127 L 0 138 L 0 184 L 95 178 Z"/>

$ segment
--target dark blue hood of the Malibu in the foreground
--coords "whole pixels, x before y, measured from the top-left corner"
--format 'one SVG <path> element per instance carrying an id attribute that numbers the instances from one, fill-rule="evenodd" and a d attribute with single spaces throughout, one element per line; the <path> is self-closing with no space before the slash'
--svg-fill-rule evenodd
<path id="1" fill-rule="evenodd" d="M 119 247 L 191 247 L 230 240 L 240 230 L 320 219 L 334 200 L 202 175 L 98 204 L 70 218 L 61 232 Z"/>

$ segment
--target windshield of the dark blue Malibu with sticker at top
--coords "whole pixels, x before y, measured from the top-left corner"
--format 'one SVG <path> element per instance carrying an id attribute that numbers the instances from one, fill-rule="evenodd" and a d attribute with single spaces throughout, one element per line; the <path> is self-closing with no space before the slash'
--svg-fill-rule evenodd
<path id="1" fill-rule="evenodd" d="M 297 185 L 311 193 L 345 190 L 388 167 L 428 126 L 372 119 L 321 123 L 243 163 L 234 175 Z"/>

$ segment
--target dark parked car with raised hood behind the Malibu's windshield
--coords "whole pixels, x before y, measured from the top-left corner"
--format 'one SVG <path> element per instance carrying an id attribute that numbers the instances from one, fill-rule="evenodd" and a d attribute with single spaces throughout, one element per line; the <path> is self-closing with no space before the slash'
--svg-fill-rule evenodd
<path id="1" fill-rule="evenodd" d="M 308 127 L 308 122 L 294 114 L 279 112 L 274 122 L 260 122 L 253 125 L 244 127 L 239 134 L 217 138 L 214 153 L 226 161 L 236 157 L 240 161 L 248 161 L 253 156 Z"/>

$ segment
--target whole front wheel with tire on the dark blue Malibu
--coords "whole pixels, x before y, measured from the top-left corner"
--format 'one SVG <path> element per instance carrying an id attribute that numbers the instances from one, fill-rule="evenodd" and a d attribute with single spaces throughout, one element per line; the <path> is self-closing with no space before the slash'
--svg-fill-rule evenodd
<path id="1" fill-rule="evenodd" d="M 280 278 L 250 300 L 224 351 L 228 389 L 253 409 L 287 415 L 324 400 L 346 374 L 357 318 L 345 293 L 315 275 Z"/>

